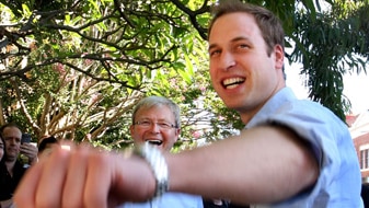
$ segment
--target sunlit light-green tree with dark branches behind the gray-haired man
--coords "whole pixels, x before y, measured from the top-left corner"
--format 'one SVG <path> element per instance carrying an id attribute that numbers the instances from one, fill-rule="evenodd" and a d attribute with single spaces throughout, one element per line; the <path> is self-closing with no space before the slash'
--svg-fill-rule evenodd
<path id="1" fill-rule="evenodd" d="M 56 134 L 119 145 L 129 138 L 122 126 L 130 123 L 131 106 L 143 94 L 178 97 L 186 89 L 184 99 L 173 100 L 193 107 L 191 100 L 200 95 L 193 90 L 200 69 L 193 63 L 206 58 L 194 41 L 204 43 L 177 8 L 168 5 L 76 1 L 36 11 L 30 9 L 36 4 L 22 4 L 22 19 L 13 20 L 19 23 L 1 27 L 7 45 L 1 101 L 16 108 L 3 107 L 2 120 L 21 123 L 37 138 Z M 178 91 L 169 90 L 174 84 Z M 194 123 L 191 118 L 184 127 Z"/>

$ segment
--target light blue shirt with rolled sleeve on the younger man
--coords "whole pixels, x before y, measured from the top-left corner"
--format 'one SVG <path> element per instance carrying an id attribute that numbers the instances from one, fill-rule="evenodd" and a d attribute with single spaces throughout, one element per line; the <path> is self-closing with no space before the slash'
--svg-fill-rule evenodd
<path id="1" fill-rule="evenodd" d="M 298 100 L 289 88 L 280 90 L 245 128 L 263 124 L 286 126 L 310 143 L 320 167 L 313 187 L 285 201 L 251 207 L 362 208 L 361 175 L 347 126 L 321 104 Z M 267 178 L 266 178 L 267 180 Z"/>

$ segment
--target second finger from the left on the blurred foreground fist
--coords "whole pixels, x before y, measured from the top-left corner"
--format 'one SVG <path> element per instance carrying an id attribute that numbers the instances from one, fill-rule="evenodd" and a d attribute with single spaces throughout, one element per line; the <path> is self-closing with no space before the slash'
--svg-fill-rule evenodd
<path id="1" fill-rule="evenodd" d="M 70 154 L 71 151 L 59 148 L 44 160 L 45 167 L 35 196 L 37 208 L 60 207 Z"/>

